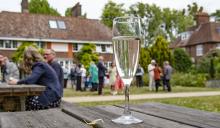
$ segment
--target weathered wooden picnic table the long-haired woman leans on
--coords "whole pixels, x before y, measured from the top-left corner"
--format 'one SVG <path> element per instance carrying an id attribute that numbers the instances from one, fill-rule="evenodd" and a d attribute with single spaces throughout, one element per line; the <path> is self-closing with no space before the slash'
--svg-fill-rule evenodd
<path id="1" fill-rule="evenodd" d="M 24 111 L 27 96 L 38 96 L 45 90 L 40 85 L 0 84 L 0 105 L 3 111 Z M 14 110 L 15 109 L 15 110 Z"/>

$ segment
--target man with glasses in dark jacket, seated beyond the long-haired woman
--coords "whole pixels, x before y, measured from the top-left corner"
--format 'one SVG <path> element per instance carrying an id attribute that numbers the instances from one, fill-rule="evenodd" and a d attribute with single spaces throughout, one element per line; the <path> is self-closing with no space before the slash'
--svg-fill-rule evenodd
<path id="1" fill-rule="evenodd" d="M 61 85 L 61 96 L 63 96 L 64 87 L 64 76 L 62 66 L 55 60 L 56 52 L 53 49 L 44 50 L 44 59 L 47 63 L 56 71 L 60 85 Z"/>

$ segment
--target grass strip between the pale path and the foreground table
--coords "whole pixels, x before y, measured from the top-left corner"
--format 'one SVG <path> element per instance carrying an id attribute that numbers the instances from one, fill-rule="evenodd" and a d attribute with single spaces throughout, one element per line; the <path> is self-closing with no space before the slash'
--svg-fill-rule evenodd
<path id="1" fill-rule="evenodd" d="M 184 106 L 209 112 L 220 113 L 220 96 L 205 96 L 205 97 L 187 97 L 187 98 L 168 98 L 168 99 L 152 99 L 152 100 L 131 100 L 131 104 L 139 104 L 144 102 L 160 102 Z M 80 103 L 81 106 L 97 106 L 97 105 L 119 105 L 124 104 L 124 101 L 109 101 L 109 102 L 87 102 Z"/>

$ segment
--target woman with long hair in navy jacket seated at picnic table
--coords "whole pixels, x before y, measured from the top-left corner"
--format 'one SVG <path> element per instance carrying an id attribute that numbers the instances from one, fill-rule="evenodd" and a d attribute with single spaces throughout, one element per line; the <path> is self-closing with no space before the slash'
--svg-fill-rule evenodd
<path id="1" fill-rule="evenodd" d="M 23 69 L 30 75 L 22 80 L 12 79 L 9 84 L 37 84 L 46 87 L 41 95 L 26 99 L 26 110 L 59 107 L 62 89 L 53 68 L 44 61 L 42 55 L 34 47 L 25 49 L 23 63 Z"/>

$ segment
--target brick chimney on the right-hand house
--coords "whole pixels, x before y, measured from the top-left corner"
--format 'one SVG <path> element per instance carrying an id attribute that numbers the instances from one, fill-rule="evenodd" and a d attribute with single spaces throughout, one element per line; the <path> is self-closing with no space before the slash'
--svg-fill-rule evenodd
<path id="1" fill-rule="evenodd" d="M 203 23 L 208 23 L 209 22 L 209 15 L 208 13 L 205 12 L 197 12 L 196 13 L 196 25 L 199 26 L 200 24 Z"/>

